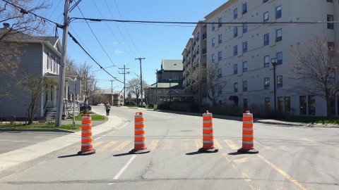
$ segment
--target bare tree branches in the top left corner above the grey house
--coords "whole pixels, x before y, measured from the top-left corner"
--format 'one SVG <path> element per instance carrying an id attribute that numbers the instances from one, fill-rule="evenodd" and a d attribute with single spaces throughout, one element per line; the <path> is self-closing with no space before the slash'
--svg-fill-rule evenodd
<path id="1" fill-rule="evenodd" d="M 50 8 L 47 1 L 38 4 L 34 0 L 1 1 L 0 23 L 4 23 L 4 28 L 0 29 L 0 70 L 5 74 L 15 75 L 18 69 L 20 47 L 25 45 L 20 42 L 20 35 L 44 34 L 48 29 L 45 20 L 32 14 L 47 8 Z"/>

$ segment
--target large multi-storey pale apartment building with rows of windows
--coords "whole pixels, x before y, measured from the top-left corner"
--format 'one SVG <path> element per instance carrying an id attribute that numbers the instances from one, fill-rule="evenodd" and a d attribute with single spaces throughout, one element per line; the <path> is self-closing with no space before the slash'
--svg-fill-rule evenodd
<path id="1" fill-rule="evenodd" d="M 237 101 L 244 108 L 254 103 L 274 108 L 276 102 L 280 113 L 326 115 L 324 99 L 286 88 L 295 83 L 287 75 L 287 65 L 294 59 L 293 46 L 302 46 L 315 36 L 339 42 L 338 23 L 306 24 L 326 20 L 339 20 L 338 0 L 227 1 L 196 25 L 194 37 L 182 53 L 185 91 L 194 92 L 194 77 L 189 75 L 196 64 L 218 64 L 215 75 L 227 83 L 219 103 Z M 295 24 L 299 22 L 305 24 Z M 272 58 L 277 63 L 275 84 Z M 206 96 L 194 98 L 208 102 Z M 332 104 L 333 115 L 338 115 L 339 96 Z"/>

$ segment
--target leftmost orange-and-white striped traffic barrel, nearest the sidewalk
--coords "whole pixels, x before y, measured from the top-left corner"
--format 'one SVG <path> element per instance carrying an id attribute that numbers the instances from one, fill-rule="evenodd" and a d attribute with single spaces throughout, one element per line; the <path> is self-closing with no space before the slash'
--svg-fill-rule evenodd
<path id="1" fill-rule="evenodd" d="M 78 151 L 78 155 L 92 153 L 95 153 L 92 139 L 92 118 L 90 118 L 90 114 L 84 114 L 81 120 L 81 151 Z"/>

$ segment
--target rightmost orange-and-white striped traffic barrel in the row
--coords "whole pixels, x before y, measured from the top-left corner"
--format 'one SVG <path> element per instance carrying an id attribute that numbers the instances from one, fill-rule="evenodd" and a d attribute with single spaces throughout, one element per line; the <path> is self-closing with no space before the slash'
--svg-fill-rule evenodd
<path id="1" fill-rule="evenodd" d="M 259 153 L 254 148 L 253 114 L 249 110 L 242 115 L 242 148 L 238 153 Z"/>

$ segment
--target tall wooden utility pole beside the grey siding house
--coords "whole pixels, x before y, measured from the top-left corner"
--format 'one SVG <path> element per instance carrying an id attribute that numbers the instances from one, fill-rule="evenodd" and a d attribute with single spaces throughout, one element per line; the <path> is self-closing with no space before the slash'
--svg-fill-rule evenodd
<path id="1" fill-rule="evenodd" d="M 66 0 L 64 7 L 64 26 L 62 32 L 62 50 L 61 50 L 61 61 L 59 68 L 59 89 L 58 89 L 58 99 L 57 99 L 57 115 L 55 116 L 55 127 L 61 126 L 62 111 L 64 110 L 64 87 L 65 87 L 65 61 L 66 61 L 66 51 L 67 51 L 67 40 L 69 37 L 69 4 L 70 1 Z"/>

